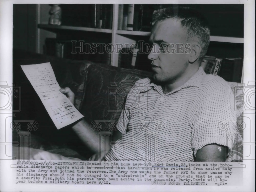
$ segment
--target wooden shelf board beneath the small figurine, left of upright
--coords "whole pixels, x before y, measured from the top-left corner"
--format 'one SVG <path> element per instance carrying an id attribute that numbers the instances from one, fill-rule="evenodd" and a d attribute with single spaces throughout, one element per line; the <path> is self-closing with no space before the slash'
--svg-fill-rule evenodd
<path id="1" fill-rule="evenodd" d="M 58 30 L 74 30 L 74 31 L 90 31 L 90 32 L 100 32 L 100 33 L 112 33 L 112 29 L 74 27 L 74 26 L 65 26 L 65 25 L 38 24 L 38 28 L 45 29 L 45 30 L 52 31 L 52 32 L 56 32 Z"/>

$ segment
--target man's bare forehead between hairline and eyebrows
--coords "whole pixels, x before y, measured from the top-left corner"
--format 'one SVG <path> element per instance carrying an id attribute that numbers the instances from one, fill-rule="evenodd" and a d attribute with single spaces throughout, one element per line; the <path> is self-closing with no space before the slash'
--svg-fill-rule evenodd
<path id="1" fill-rule="evenodd" d="M 152 28 L 151 42 L 173 42 L 175 40 L 185 39 L 186 33 L 180 21 L 175 18 L 168 18 L 160 22 L 156 22 Z"/>

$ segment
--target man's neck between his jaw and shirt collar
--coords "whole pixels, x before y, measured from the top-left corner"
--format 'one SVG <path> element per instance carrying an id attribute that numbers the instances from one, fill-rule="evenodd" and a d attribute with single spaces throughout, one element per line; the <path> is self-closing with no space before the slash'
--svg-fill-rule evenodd
<path id="1" fill-rule="evenodd" d="M 199 69 L 199 66 L 186 70 L 181 77 L 179 77 L 174 83 L 163 85 L 164 94 L 169 93 L 176 88 L 184 85 Z"/>

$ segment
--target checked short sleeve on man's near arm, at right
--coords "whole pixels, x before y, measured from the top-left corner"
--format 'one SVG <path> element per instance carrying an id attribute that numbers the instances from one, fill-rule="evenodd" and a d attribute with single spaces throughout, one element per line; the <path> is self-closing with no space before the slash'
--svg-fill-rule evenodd
<path id="1" fill-rule="evenodd" d="M 202 94 L 194 126 L 191 133 L 191 144 L 194 155 L 198 149 L 208 144 L 218 144 L 232 150 L 236 134 L 236 114 L 234 96 L 228 85 L 208 88 Z"/>

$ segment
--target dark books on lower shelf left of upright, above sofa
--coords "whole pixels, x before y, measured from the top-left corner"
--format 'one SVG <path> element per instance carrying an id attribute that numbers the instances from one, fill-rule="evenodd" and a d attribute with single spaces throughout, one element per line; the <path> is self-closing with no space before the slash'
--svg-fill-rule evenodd
<path id="1" fill-rule="evenodd" d="M 108 52 L 106 52 L 106 47 L 104 46 L 94 46 L 91 48 L 90 46 L 85 45 L 85 43 L 83 43 L 81 47 L 78 47 L 78 45 L 78 41 L 75 43 L 75 46 L 77 47 L 74 48 L 74 43 L 71 40 L 46 38 L 44 54 L 72 60 L 90 60 L 110 65 L 111 50 L 109 50 L 109 48 Z"/>

